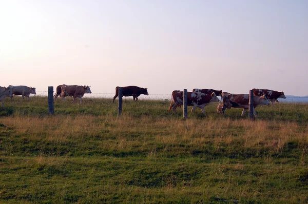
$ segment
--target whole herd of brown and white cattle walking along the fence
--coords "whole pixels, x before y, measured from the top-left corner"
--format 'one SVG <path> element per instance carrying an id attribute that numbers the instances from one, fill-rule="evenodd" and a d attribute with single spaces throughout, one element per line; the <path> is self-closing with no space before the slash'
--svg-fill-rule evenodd
<path id="1" fill-rule="evenodd" d="M 119 88 L 122 88 L 123 96 L 132 96 L 133 100 L 138 100 L 138 96 L 141 94 L 149 95 L 146 88 L 140 88 L 137 86 L 127 86 L 127 87 L 116 87 L 115 96 L 113 97 L 113 103 L 115 98 L 119 96 Z M 272 105 L 275 101 L 278 102 L 277 98 L 285 98 L 284 92 L 273 91 L 269 89 L 253 89 L 254 91 L 254 108 L 259 105 L 269 105 L 271 101 Z M 79 98 L 80 103 L 82 103 L 82 97 L 85 93 L 92 93 L 89 86 L 78 86 L 78 85 L 59 85 L 56 87 L 54 94 L 54 101 L 58 96 L 62 97 L 62 101 L 66 96 L 72 96 L 73 103 L 74 100 Z M 35 88 L 27 86 L 8 86 L 0 87 L 0 101 L 2 107 L 4 105 L 3 99 L 5 97 L 13 97 L 13 95 L 22 95 L 24 98 L 29 97 L 30 94 L 36 94 Z M 169 112 L 172 109 L 176 112 L 177 107 L 183 105 L 183 91 L 172 91 L 171 94 L 171 104 Z M 218 105 L 217 111 L 224 114 L 225 109 L 230 108 L 243 108 L 241 116 L 244 115 L 248 109 L 249 94 L 231 94 L 228 92 L 222 92 L 221 90 L 214 89 L 193 89 L 192 92 L 187 92 L 187 105 L 193 106 L 191 112 L 196 108 L 200 108 L 202 113 L 205 114 L 204 107 L 212 102 L 219 102 L 220 96 L 222 98 L 222 104 Z M 254 115 L 257 117 L 256 111 L 254 110 Z"/>

